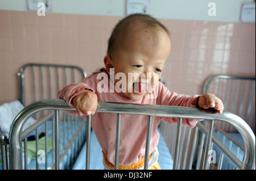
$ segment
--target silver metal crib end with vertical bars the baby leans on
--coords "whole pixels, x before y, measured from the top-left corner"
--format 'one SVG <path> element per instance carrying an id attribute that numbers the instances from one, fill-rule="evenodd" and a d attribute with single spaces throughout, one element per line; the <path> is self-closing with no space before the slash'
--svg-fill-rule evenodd
<path id="1" fill-rule="evenodd" d="M 233 125 L 238 132 L 241 133 L 243 140 L 245 141 L 245 153 L 243 155 L 242 162 L 234 157 L 232 162 L 238 169 L 255 169 L 255 135 L 249 125 L 245 123 L 240 117 L 234 115 L 233 113 L 224 111 L 221 115 L 216 113 L 216 111 L 202 110 L 200 108 L 190 108 L 190 107 L 174 107 L 174 106 L 156 106 L 156 105 L 138 105 L 138 104 L 124 104 L 124 103 L 107 103 L 99 102 L 100 108 L 97 112 L 105 113 L 116 113 L 117 114 L 117 129 L 116 129 L 116 143 L 115 145 L 115 169 L 118 169 L 118 155 L 119 155 L 119 140 L 120 140 L 120 125 L 122 114 L 135 114 L 135 115 L 147 115 L 148 116 L 148 126 L 146 135 L 146 151 L 145 151 L 145 161 L 144 169 L 148 169 L 148 151 L 150 144 L 150 134 L 151 134 L 151 119 L 152 116 L 162 116 L 162 117 L 179 117 L 176 124 L 176 136 L 175 136 L 175 146 L 174 146 L 174 165 L 173 169 L 177 169 L 180 164 L 179 150 L 180 150 L 180 137 L 181 137 L 181 121 L 183 118 L 191 119 L 204 119 L 208 120 L 209 127 L 208 131 L 205 130 L 203 125 L 199 124 L 199 128 L 207 134 L 207 141 L 205 144 L 205 150 L 202 154 L 203 157 L 203 169 L 209 168 L 208 162 L 208 151 L 211 148 L 212 141 L 218 142 L 213 136 L 213 123 L 216 120 Z M 55 117 L 55 169 L 59 169 L 59 112 L 60 111 L 74 111 L 68 106 L 64 100 L 60 99 L 48 99 L 39 100 L 38 102 L 32 103 L 25 107 L 19 115 L 16 116 L 10 131 L 10 137 L 7 142 L 9 142 L 9 164 L 10 169 L 22 169 L 22 127 L 26 123 L 28 117 L 33 115 L 38 111 L 44 110 L 54 110 Z M 87 117 L 87 131 L 86 131 L 86 169 L 89 169 L 90 163 L 90 120 L 91 116 Z M 194 139 L 196 142 L 197 139 Z M 219 143 L 221 147 L 221 143 Z M 196 145 L 196 144 L 193 144 Z M 6 144 L 2 144 L 2 150 L 5 150 Z M 195 153 L 195 148 L 192 150 Z M 6 151 L 2 151 L 3 162 L 5 162 Z M 224 150 L 224 153 L 229 153 L 228 150 Z M 194 158 L 196 154 L 191 155 Z M 231 157 L 233 155 L 231 154 Z M 191 159 L 193 161 L 193 159 Z M 7 162 L 3 163 L 8 167 Z M 189 163 L 191 164 L 191 163 Z"/>

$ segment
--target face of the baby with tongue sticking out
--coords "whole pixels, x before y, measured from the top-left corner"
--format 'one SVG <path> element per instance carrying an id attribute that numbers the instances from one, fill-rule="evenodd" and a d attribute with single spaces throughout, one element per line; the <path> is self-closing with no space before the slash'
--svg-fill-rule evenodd
<path id="1" fill-rule="evenodd" d="M 164 30 L 150 28 L 135 28 L 128 37 L 121 40 L 112 56 L 114 82 L 123 94 L 138 100 L 150 94 L 158 83 L 171 50 L 171 40 Z M 117 75 L 126 75 L 126 86 L 120 84 L 121 77 Z"/>

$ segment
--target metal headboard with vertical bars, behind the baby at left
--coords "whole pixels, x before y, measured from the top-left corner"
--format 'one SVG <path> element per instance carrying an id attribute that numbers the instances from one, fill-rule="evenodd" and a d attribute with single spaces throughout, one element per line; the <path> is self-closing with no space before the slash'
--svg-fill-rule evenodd
<path id="1" fill-rule="evenodd" d="M 86 76 L 85 70 L 75 65 L 25 64 L 18 73 L 19 100 L 27 106 L 37 100 L 55 99 L 62 87 Z"/>

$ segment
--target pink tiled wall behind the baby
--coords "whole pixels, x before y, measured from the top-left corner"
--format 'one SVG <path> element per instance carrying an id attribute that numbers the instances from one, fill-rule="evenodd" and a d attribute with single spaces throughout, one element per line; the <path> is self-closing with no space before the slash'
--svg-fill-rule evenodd
<path id="1" fill-rule="evenodd" d="M 121 17 L 0 10 L 0 104 L 18 99 L 17 73 L 28 62 L 102 66 L 113 26 Z M 216 74 L 255 77 L 255 24 L 160 19 L 172 50 L 163 79 L 182 94 L 201 94 Z"/>

